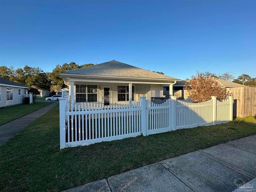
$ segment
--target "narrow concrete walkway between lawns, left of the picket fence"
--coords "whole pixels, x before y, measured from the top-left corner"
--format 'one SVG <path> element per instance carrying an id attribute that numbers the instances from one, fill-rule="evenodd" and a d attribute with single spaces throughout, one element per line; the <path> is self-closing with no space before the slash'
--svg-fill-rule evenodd
<path id="1" fill-rule="evenodd" d="M 36 118 L 45 114 L 47 111 L 56 106 L 58 102 L 54 102 L 46 107 L 38 109 L 28 115 L 22 116 L 18 119 L 15 119 L 9 123 L 3 124 L 0 126 L 0 145 L 3 145 L 8 141 L 14 134 L 18 133 L 20 130 L 24 129 Z"/>

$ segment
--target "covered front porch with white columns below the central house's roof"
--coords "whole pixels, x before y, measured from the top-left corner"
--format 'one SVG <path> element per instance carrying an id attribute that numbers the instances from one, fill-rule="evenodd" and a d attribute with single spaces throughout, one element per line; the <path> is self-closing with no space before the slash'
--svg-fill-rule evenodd
<path id="1" fill-rule="evenodd" d="M 102 106 L 109 105 L 132 105 L 133 102 L 140 101 L 141 96 L 147 100 L 153 98 L 164 98 L 163 85 L 169 85 L 169 94 L 173 95 L 173 84 L 175 82 L 145 82 L 145 81 L 109 81 L 108 79 L 88 78 L 70 79 L 69 101 L 71 106 L 93 105 L 100 103 Z"/>

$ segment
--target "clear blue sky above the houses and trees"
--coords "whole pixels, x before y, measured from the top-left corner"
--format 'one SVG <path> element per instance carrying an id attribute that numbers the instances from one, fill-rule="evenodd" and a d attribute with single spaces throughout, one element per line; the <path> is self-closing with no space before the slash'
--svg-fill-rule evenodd
<path id="1" fill-rule="evenodd" d="M 256 1 L 1 1 L 0 65 L 117 60 L 256 77 Z"/>

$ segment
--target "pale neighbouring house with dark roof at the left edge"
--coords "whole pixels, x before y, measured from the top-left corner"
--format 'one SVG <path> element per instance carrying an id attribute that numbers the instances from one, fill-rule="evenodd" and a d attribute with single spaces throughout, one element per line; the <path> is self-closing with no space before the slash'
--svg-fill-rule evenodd
<path id="1" fill-rule="evenodd" d="M 22 103 L 23 94 L 29 87 L 0 78 L 0 107 L 17 105 Z"/>

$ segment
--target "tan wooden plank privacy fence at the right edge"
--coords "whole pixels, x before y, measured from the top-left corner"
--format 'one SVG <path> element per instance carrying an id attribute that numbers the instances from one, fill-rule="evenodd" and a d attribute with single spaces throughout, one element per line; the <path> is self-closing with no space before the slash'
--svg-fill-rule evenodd
<path id="1" fill-rule="evenodd" d="M 233 94 L 233 116 L 256 115 L 256 87 L 232 87 L 227 91 Z"/>

